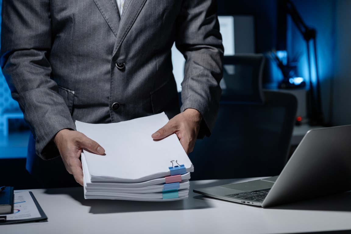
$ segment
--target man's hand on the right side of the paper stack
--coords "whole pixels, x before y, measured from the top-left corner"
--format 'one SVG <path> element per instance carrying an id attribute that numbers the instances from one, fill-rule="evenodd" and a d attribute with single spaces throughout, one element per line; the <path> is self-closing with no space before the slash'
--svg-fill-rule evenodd
<path id="1" fill-rule="evenodd" d="M 176 133 L 185 152 L 189 154 L 194 149 L 201 120 L 202 116 L 196 109 L 186 109 L 170 119 L 165 126 L 152 134 L 151 137 L 160 140 Z"/>

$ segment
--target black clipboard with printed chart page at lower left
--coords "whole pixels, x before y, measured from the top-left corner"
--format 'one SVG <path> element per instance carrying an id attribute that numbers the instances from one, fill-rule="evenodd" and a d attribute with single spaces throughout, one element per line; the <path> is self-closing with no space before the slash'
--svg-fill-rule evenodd
<path id="1" fill-rule="evenodd" d="M 13 214 L 6 215 L 6 222 L 0 224 L 47 221 L 44 211 L 32 192 L 14 193 Z"/>

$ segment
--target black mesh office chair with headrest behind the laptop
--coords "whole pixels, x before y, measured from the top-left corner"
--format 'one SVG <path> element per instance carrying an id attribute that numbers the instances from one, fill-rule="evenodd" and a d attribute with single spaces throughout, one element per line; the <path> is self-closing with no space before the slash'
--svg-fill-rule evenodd
<path id="1" fill-rule="evenodd" d="M 263 91 L 264 56 L 226 56 L 216 125 L 189 157 L 192 180 L 279 175 L 287 162 L 297 100 Z"/>

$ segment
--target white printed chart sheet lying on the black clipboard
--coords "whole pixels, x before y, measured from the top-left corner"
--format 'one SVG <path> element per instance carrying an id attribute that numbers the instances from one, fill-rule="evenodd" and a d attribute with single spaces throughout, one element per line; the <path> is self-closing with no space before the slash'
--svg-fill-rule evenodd
<path id="1" fill-rule="evenodd" d="M 41 215 L 29 192 L 14 193 L 13 214 L 6 215 L 6 220 L 40 218 Z"/>

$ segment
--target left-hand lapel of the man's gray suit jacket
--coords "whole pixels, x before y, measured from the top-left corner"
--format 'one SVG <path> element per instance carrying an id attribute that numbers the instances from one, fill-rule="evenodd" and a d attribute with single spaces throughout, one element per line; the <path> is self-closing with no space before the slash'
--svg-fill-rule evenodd
<path id="1" fill-rule="evenodd" d="M 108 26 L 110 26 L 113 34 L 117 37 L 119 24 L 120 24 L 120 17 L 119 17 L 116 1 L 115 0 L 94 0 L 94 2 L 96 6 L 99 8 L 102 16 L 104 16 Z"/>

